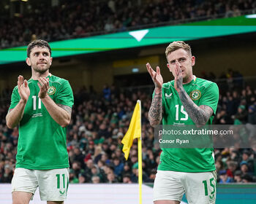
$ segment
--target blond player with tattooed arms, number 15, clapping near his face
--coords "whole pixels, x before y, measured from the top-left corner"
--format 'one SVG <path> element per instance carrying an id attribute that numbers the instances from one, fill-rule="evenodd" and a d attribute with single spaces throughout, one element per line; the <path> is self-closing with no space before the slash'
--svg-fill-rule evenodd
<path id="1" fill-rule="evenodd" d="M 169 44 L 167 67 L 174 80 L 163 83 L 160 68 L 146 67 L 154 82 L 154 96 L 148 112 L 150 124 L 211 124 L 219 100 L 214 82 L 192 74 L 195 56 L 184 42 Z M 154 204 L 178 204 L 186 193 L 189 203 L 215 203 L 216 171 L 212 148 L 163 148 L 154 181 Z"/>

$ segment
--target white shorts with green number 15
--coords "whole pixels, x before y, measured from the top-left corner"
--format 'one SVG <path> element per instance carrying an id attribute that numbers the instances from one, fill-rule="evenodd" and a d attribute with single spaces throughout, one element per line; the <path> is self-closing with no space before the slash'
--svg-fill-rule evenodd
<path id="1" fill-rule="evenodd" d="M 216 171 L 186 173 L 157 170 L 154 181 L 155 200 L 178 200 L 186 193 L 189 204 L 214 204 L 216 200 Z"/>

